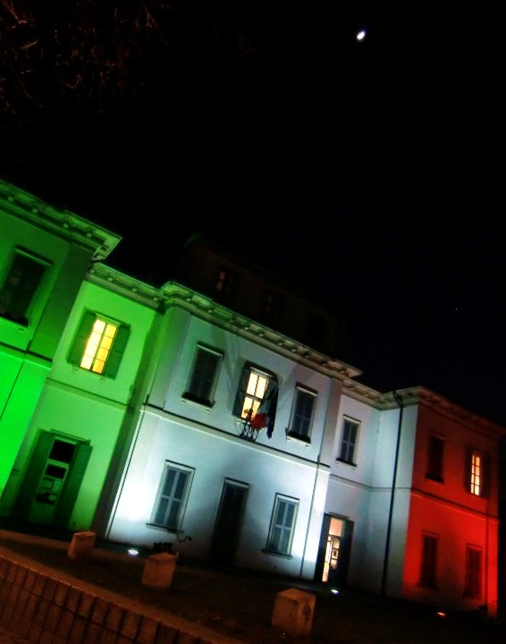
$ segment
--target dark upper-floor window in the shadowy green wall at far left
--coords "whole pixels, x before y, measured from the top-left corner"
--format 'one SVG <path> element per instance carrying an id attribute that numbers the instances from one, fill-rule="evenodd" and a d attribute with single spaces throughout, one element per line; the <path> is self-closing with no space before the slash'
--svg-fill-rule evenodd
<path id="1" fill-rule="evenodd" d="M 47 262 L 20 249 L 14 251 L 13 261 L 0 288 L 0 317 L 28 326 L 30 306 L 47 266 Z"/>

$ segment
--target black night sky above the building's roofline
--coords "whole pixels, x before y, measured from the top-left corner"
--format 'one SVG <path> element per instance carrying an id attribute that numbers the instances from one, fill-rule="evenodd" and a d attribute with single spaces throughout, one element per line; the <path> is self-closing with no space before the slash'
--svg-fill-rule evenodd
<path id="1" fill-rule="evenodd" d="M 68 4 L 72 38 L 81 20 L 107 39 L 104 9 Z M 84 55 L 62 89 L 55 42 L 39 47 L 55 30 L 38 15 L 21 32 L 0 3 L 3 178 L 121 234 L 108 263 L 150 284 L 207 233 L 346 311 L 335 357 L 361 382 L 426 386 L 506 425 L 498 6 L 236 4 L 160 9 L 164 38 L 139 38 L 126 84 Z M 9 47 L 29 36 L 19 76 Z"/>

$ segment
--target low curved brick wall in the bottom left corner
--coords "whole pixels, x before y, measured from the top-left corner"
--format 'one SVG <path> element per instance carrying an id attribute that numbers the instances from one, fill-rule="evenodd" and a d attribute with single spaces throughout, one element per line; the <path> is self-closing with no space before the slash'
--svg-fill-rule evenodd
<path id="1" fill-rule="evenodd" d="M 0 625 L 35 644 L 240 644 L 3 549 Z"/>

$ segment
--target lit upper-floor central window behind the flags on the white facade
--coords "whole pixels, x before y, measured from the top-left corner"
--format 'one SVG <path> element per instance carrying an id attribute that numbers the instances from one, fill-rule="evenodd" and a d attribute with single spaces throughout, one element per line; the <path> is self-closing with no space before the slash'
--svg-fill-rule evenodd
<path id="1" fill-rule="evenodd" d="M 267 428 L 272 436 L 277 405 L 278 384 L 274 374 L 247 363 L 240 373 L 240 382 L 232 413 L 250 423 L 251 428 Z"/>

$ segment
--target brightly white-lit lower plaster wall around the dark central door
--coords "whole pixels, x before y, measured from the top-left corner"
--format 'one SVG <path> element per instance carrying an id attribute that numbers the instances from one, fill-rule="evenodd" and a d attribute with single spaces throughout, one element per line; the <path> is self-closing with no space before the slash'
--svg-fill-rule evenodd
<path id="1" fill-rule="evenodd" d="M 310 516 L 315 507 L 321 513 L 325 475 L 318 474 L 313 463 L 212 429 L 198 428 L 195 423 L 152 413 L 146 413 L 139 426 L 108 538 L 144 547 L 173 540 L 166 530 L 148 525 L 166 461 L 195 470 L 181 525 L 192 538 L 185 543 L 188 555 L 207 556 L 223 480 L 234 479 L 249 485 L 236 563 L 253 569 L 312 576 L 319 526 L 317 520 L 310 522 Z M 299 500 L 291 558 L 262 552 L 276 493 Z M 303 568 L 305 555 L 308 563 Z"/>

